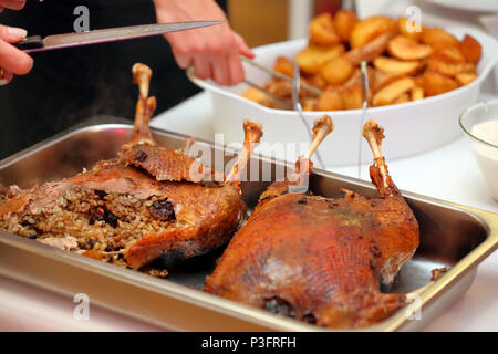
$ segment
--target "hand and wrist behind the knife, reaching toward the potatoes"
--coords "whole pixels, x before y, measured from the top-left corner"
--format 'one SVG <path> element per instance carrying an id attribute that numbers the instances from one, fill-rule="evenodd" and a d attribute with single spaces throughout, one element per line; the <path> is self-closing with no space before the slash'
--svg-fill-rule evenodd
<path id="1" fill-rule="evenodd" d="M 158 22 L 215 21 L 227 18 L 214 0 L 154 0 Z M 234 85 L 245 77 L 240 54 L 253 58 L 243 39 L 228 23 L 167 33 L 177 64 L 195 67 L 196 76 Z"/>

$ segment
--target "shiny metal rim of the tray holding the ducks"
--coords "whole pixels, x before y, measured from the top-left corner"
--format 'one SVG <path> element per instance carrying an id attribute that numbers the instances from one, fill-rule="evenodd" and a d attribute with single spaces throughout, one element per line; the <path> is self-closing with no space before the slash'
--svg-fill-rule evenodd
<path id="1" fill-rule="evenodd" d="M 56 144 L 63 139 L 71 137 L 82 131 L 89 129 L 101 129 L 104 127 L 126 127 L 129 128 L 133 125 L 129 121 L 125 121 L 123 118 L 111 117 L 111 116 L 97 116 L 95 118 L 85 121 L 72 128 L 69 128 L 51 138 L 44 139 L 27 149 L 23 149 L 17 154 L 13 154 L 2 160 L 0 160 L 0 168 L 9 166 L 22 157 L 38 150 L 44 148 L 46 146 Z M 190 136 L 185 134 L 178 134 L 175 132 L 160 129 L 160 128 L 152 128 L 153 132 L 168 135 L 175 138 L 188 139 Z M 215 147 L 215 144 L 205 139 L 196 138 L 196 142 L 201 142 L 208 144 L 211 147 Z M 216 146 L 217 148 L 221 146 Z M 226 147 L 225 147 L 226 148 Z M 235 149 L 227 148 L 229 152 L 235 152 Z M 290 165 L 288 162 L 282 162 L 276 159 L 273 157 L 260 156 L 261 160 L 271 162 L 276 164 L 284 164 L 287 166 Z M 331 177 L 336 180 L 342 180 L 345 183 L 352 183 L 354 185 L 370 187 L 373 188 L 373 185 L 369 181 L 364 181 L 357 178 L 343 176 L 340 174 L 331 173 L 328 170 L 322 170 L 318 168 L 313 168 L 313 173 L 317 175 L 321 175 L 323 177 Z M 404 197 L 408 197 L 413 200 L 419 200 L 424 202 L 428 202 L 436 206 L 443 206 L 445 208 L 449 208 L 456 211 L 465 212 L 470 217 L 475 218 L 479 223 L 484 225 L 488 231 L 487 238 L 478 244 L 474 250 L 471 250 L 468 254 L 466 254 L 461 260 L 459 260 L 452 269 L 445 273 L 437 281 L 432 282 L 427 288 L 424 289 L 419 293 L 421 295 L 421 306 L 422 311 L 430 303 L 433 303 L 438 296 L 440 296 L 446 290 L 449 290 L 455 283 L 458 282 L 467 273 L 471 272 L 477 268 L 477 266 L 486 259 L 490 253 L 492 253 L 498 248 L 498 214 L 494 214 L 490 211 L 480 210 L 477 208 L 471 208 L 418 194 L 407 192 L 402 190 L 402 195 Z M 240 303 L 236 303 L 234 301 L 222 299 L 204 291 L 197 289 L 190 289 L 183 284 L 174 283 L 167 279 L 156 279 L 147 274 L 143 274 L 133 270 L 123 269 L 115 267 L 114 264 L 107 264 L 105 262 L 90 259 L 76 253 L 63 251 L 41 242 L 32 242 L 27 238 L 21 236 L 7 233 L 0 231 L 0 243 L 14 247 L 28 252 L 35 253 L 41 257 L 46 257 L 54 261 L 59 261 L 65 264 L 71 264 L 73 267 L 77 267 L 83 271 L 95 272 L 100 275 L 111 278 L 115 281 L 123 282 L 129 285 L 138 287 L 142 289 L 146 289 L 147 291 L 152 291 L 158 293 L 160 295 L 165 295 L 172 299 L 176 299 L 179 301 L 185 301 L 195 306 L 201 306 L 204 309 L 215 311 L 228 316 L 238 317 L 242 321 L 248 321 L 249 323 L 255 323 L 257 325 L 262 325 L 267 329 L 271 330 L 280 330 L 280 331 L 320 331 L 320 332 L 336 332 L 343 330 L 335 329 L 322 329 L 315 325 L 305 324 L 299 322 L 297 320 L 281 317 L 279 315 L 274 315 L 263 311 L 261 309 L 256 309 L 251 306 L 247 306 Z M 6 274 L 8 275 L 8 274 Z M 51 291 L 58 292 L 56 289 L 51 289 Z M 98 301 L 96 301 L 98 302 Z M 103 304 L 105 306 L 105 304 Z M 403 327 L 407 324 L 405 308 L 402 308 L 396 313 L 394 313 L 388 319 L 374 324 L 366 329 L 359 329 L 353 331 L 396 331 L 403 330 Z"/>

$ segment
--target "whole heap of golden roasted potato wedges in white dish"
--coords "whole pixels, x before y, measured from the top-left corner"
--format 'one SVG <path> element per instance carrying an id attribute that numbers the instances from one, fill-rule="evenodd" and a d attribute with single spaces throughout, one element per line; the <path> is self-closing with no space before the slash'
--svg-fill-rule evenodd
<path id="1" fill-rule="evenodd" d="M 299 65 L 302 82 L 322 90 L 317 97 L 301 88 L 307 111 L 361 108 L 362 61 L 369 63 L 367 102 L 372 106 L 423 100 L 476 80 L 483 49 L 475 38 L 466 35 L 459 41 L 440 28 L 417 29 L 411 21 L 383 15 L 359 20 L 349 10 L 340 10 L 335 17 L 320 14 L 310 23 L 308 48 L 294 62 L 278 58 L 274 70 L 292 77 L 293 65 Z M 266 87 L 291 102 L 289 82 L 272 79 Z M 276 104 L 261 93 L 252 95 L 261 104 Z"/>

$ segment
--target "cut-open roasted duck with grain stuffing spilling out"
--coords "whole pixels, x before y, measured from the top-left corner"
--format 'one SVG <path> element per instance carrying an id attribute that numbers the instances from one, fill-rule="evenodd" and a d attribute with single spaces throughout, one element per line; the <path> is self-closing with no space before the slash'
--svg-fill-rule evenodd
<path id="1" fill-rule="evenodd" d="M 187 259 L 228 242 L 246 219 L 239 177 L 260 125 L 245 122 L 245 147 L 230 175 L 157 146 L 148 122 L 152 72 L 133 67 L 139 86 L 135 129 L 120 156 L 90 170 L 28 190 L 11 187 L 0 229 L 84 256 L 139 269 L 157 257 Z"/>

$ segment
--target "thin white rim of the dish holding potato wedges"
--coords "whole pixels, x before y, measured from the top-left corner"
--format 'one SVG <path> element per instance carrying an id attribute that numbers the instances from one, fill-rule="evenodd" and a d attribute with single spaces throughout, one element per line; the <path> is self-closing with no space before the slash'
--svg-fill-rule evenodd
<path id="1" fill-rule="evenodd" d="M 455 32 L 455 31 L 456 32 L 465 32 L 465 33 L 471 34 L 473 37 L 481 38 L 486 41 L 492 42 L 494 43 L 492 48 L 498 46 L 498 41 L 495 38 L 489 35 L 488 33 L 486 33 L 481 30 L 475 29 L 475 28 L 465 27 L 465 25 L 452 25 L 452 27 L 445 28 L 445 30 L 447 30 L 450 33 Z M 286 45 L 286 44 L 290 45 L 290 44 L 295 44 L 295 43 L 300 43 L 300 42 L 305 43 L 305 41 L 307 41 L 307 39 L 294 39 L 294 40 L 288 40 L 288 41 L 277 42 L 277 43 L 270 43 L 270 44 L 257 46 L 253 49 L 253 51 L 255 52 L 264 51 L 264 50 L 269 50 L 269 48 L 271 48 L 271 46 Z M 382 112 L 386 112 L 386 111 L 388 112 L 392 110 L 406 108 L 406 107 L 411 107 L 411 106 L 419 107 L 422 105 L 432 104 L 432 103 L 438 102 L 440 100 L 445 100 L 445 98 L 448 98 L 448 97 L 452 97 L 455 95 L 464 94 L 466 91 L 469 91 L 469 90 L 474 88 L 475 86 L 480 86 L 483 84 L 484 80 L 488 76 L 489 72 L 492 70 L 492 67 L 495 67 L 496 63 L 498 62 L 498 51 L 492 51 L 490 56 L 491 58 L 489 60 L 488 65 L 486 65 L 481 69 L 481 71 L 478 73 L 476 80 L 474 80 L 471 83 L 469 83 L 465 86 L 452 90 L 449 92 L 446 92 L 446 93 L 443 93 L 439 95 L 425 97 L 419 101 L 412 101 L 412 102 L 406 102 L 406 103 L 401 103 L 401 104 L 392 104 L 392 105 L 380 106 L 380 107 L 369 107 L 369 112 L 382 113 Z M 191 67 L 191 66 L 187 70 L 187 76 L 194 84 L 196 84 L 197 86 L 199 86 L 204 90 L 207 90 L 209 92 L 215 92 L 217 94 L 221 94 L 221 95 L 230 97 L 232 100 L 237 100 L 242 104 L 256 107 L 268 114 L 272 114 L 272 115 L 297 114 L 297 112 L 293 110 L 276 110 L 276 108 L 269 108 L 269 107 L 262 106 L 256 102 L 252 102 L 250 100 L 242 97 L 240 94 L 237 94 L 235 92 L 226 90 L 224 86 L 220 86 L 211 81 L 198 79 L 195 76 L 194 67 Z M 338 115 L 349 116 L 349 115 L 357 115 L 361 112 L 362 112 L 362 110 L 360 108 L 360 110 L 340 110 L 340 111 L 305 111 L 305 112 L 303 112 L 303 114 L 307 117 L 313 117 L 315 115 L 322 115 L 322 114 L 334 114 L 335 116 L 338 116 Z"/>

